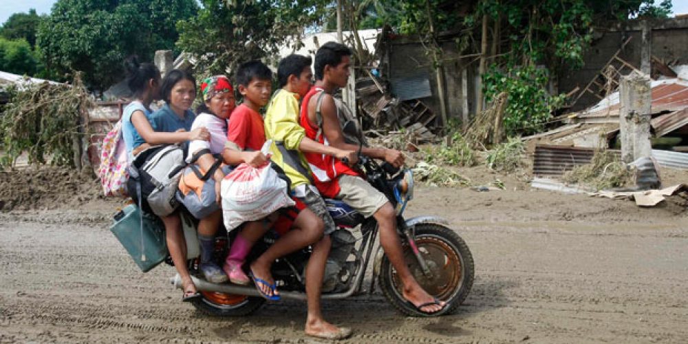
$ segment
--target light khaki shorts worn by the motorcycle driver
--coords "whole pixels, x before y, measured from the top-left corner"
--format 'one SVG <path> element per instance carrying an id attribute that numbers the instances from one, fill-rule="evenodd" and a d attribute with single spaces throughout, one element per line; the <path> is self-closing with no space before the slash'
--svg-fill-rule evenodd
<path id="1" fill-rule="evenodd" d="M 375 189 L 361 177 L 339 176 L 339 189 L 337 200 L 343 200 L 364 217 L 373 216 L 385 203 L 389 202 L 384 193 Z"/>

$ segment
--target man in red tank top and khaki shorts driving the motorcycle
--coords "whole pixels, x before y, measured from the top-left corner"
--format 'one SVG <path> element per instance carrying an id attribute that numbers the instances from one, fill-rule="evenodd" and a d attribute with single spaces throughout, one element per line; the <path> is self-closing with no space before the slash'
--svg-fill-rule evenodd
<path id="1" fill-rule="evenodd" d="M 404 164 L 400 151 L 385 148 L 358 147 L 345 142 L 332 94 L 345 87 L 350 75 L 352 51 L 345 45 L 328 42 L 316 52 L 314 69 L 316 83 L 301 103 L 299 122 L 306 137 L 337 149 L 358 151 L 361 155 L 385 160 L 395 167 Z M 365 217 L 374 217 L 380 228 L 380 245 L 398 272 L 403 285 L 402 296 L 420 312 L 440 312 L 444 301 L 433 298 L 413 278 L 402 254 L 397 234 L 396 212 L 387 197 L 368 184 L 360 175 L 332 156 L 306 153 L 313 172 L 314 185 L 323 197 L 343 200 Z"/>

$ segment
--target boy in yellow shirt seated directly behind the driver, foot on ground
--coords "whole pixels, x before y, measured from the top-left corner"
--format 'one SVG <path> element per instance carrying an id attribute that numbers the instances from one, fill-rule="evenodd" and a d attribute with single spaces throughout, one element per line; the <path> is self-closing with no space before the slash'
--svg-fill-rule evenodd
<path id="1" fill-rule="evenodd" d="M 320 309 L 325 261 L 332 244 L 330 233 L 335 230 L 334 221 L 327 212 L 325 201 L 312 185 L 311 172 L 301 152 L 332 155 L 338 159 L 348 159 L 350 162 L 356 162 L 356 152 L 319 144 L 305 137 L 305 131 L 299 125 L 299 100 L 308 93 L 313 76 L 310 69 L 311 61 L 310 57 L 296 54 L 279 61 L 277 78 L 281 89 L 268 103 L 265 134 L 266 138 L 273 142 L 270 160 L 285 171 L 291 180 L 294 196 L 325 222 L 325 235 L 313 246 L 311 259 L 306 268 L 308 319 L 305 333 L 318 338 L 341 339 L 350 336 L 351 330 L 327 323 Z"/>

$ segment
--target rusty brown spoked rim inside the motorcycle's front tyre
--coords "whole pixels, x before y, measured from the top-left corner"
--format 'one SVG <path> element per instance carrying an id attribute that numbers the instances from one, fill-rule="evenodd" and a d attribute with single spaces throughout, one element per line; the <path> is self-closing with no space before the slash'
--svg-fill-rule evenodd
<path id="1" fill-rule="evenodd" d="M 440 300 L 449 300 L 458 294 L 464 279 L 463 261 L 458 254 L 458 248 L 436 236 L 416 237 L 416 245 L 432 272 L 431 279 L 425 277 L 416 256 L 413 255 L 411 248 L 405 245 L 404 260 L 418 284 L 428 294 Z M 389 273 L 395 292 L 403 299 L 402 283 L 396 269 L 391 268 Z"/>

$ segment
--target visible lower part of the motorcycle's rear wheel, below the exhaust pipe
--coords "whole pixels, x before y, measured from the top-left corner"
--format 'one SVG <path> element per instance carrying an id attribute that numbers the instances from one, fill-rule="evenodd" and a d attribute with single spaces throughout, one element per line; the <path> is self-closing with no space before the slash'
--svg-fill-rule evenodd
<path id="1" fill-rule="evenodd" d="M 201 292 L 202 297 L 192 300 L 193 306 L 210 316 L 245 316 L 260 308 L 265 299 L 223 292 Z"/>

